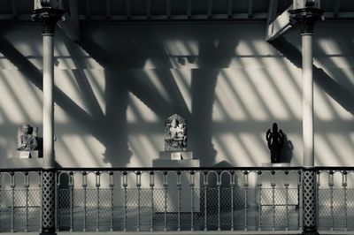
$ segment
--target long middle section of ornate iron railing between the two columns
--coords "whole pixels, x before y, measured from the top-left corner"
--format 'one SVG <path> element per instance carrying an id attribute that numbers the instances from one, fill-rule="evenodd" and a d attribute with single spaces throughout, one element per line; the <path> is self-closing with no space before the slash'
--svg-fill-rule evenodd
<path id="1" fill-rule="evenodd" d="M 301 171 L 58 171 L 58 231 L 301 228 Z"/>

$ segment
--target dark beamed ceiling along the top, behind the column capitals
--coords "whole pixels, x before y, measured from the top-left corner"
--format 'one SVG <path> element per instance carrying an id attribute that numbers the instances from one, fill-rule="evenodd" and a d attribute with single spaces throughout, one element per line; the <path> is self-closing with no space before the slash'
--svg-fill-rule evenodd
<path id="1" fill-rule="evenodd" d="M 78 20 L 269 20 L 292 0 L 59 0 Z M 322 0 L 326 19 L 353 19 L 353 0 Z M 0 20 L 30 20 L 32 0 L 0 0 Z"/>

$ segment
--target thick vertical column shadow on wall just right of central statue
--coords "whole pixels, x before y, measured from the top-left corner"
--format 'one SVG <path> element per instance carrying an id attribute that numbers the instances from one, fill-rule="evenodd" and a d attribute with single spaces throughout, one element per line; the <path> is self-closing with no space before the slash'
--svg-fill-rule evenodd
<path id="1" fill-rule="evenodd" d="M 213 36 L 199 42 L 198 65 L 202 69 L 192 70 L 192 148 L 203 166 L 216 164 L 217 151 L 212 144 L 212 110 L 215 88 L 222 68 L 227 68 L 235 56 L 238 42 L 220 41 Z M 235 110 L 236 111 L 236 110 Z M 231 155 L 230 157 L 236 157 Z"/>

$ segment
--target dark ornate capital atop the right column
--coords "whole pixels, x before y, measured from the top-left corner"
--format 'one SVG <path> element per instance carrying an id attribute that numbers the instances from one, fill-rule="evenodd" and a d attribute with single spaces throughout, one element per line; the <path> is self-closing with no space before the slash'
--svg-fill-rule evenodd
<path id="1" fill-rule="evenodd" d="M 290 10 L 290 25 L 300 24 L 301 34 L 313 34 L 315 22 L 322 19 L 323 10 L 319 8 L 302 8 Z"/>

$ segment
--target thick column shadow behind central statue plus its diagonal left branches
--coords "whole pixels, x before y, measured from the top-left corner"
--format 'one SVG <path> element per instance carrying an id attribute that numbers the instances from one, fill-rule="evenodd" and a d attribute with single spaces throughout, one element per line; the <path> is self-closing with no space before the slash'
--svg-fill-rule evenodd
<path id="1" fill-rule="evenodd" d="M 164 72 L 158 72 L 158 79 L 169 94 L 172 95 L 172 102 L 166 101 L 158 94 L 156 87 L 146 86 L 129 69 L 119 69 L 119 59 L 110 55 L 100 45 L 94 42 L 90 35 L 82 37 L 79 45 L 90 57 L 104 66 L 107 72 L 114 73 L 117 79 L 134 93 L 150 110 L 153 110 L 160 119 L 165 119 L 175 112 L 186 115 L 189 121 L 189 137 L 191 149 L 195 152 L 196 158 L 201 159 L 202 165 L 213 165 L 215 163 L 216 150 L 212 145 L 212 109 L 215 100 L 215 87 L 217 84 L 219 71 L 227 68 L 231 58 L 234 56 L 237 42 L 219 42 L 217 36 L 207 39 L 199 44 L 198 65 L 203 69 L 193 69 L 191 71 L 190 93 L 192 98 L 192 114 L 189 118 L 189 111 L 185 102 L 181 102 L 181 93 L 175 84 L 173 74 L 168 71 L 172 67 L 168 64 L 169 57 L 165 50 L 158 45 L 154 51 L 158 51 L 158 57 L 162 59 Z M 144 57 L 135 63 L 135 67 L 143 68 L 143 61 L 149 59 Z M 128 63 L 128 62 L 127 62 Z M 139 65 L 140 64 L 140 65 Z M 160 63 L 161 65 L 161 63 Z M 167 68 L 167 69 L 166 69 Z M 141 77 L 141 75 L 137 75 Z"/>

